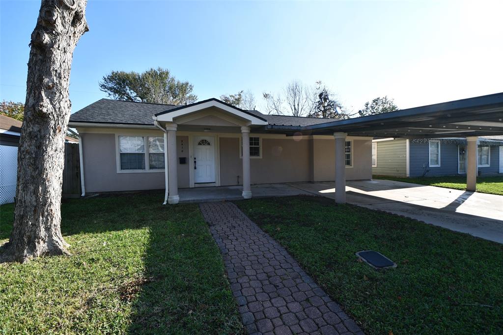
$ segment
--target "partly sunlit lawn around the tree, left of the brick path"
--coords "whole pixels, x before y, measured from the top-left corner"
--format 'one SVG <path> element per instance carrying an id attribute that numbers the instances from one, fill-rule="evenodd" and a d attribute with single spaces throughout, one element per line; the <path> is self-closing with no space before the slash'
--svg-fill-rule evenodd
<path id="1" fill-rule="evenodd" d="M 197 205 L 162 195 L 62 205 L 71 257 L 0 265 L 0 333 L 242 333 Z M 0 207 L 0 240 L 13 205 Z"/>

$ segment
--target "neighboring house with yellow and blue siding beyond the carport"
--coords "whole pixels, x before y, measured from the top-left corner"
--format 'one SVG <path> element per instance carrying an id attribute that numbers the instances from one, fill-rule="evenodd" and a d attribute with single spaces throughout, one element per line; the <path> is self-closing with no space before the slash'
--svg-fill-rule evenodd
<path id="1" fill-rule="evenodd" d="M 479 175 L 503 174 L 503 136 L 480 137 Z M 396 177 L 466 174 L 466 139 L 393 139 L 372 141 L 372 174 Z"/>

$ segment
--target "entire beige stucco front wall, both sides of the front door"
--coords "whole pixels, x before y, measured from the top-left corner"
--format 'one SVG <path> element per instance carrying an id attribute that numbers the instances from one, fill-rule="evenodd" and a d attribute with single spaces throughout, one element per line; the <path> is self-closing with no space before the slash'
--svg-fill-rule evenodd
<path id="1" fill-rule="evenodd" d="M 122 131 L 121 133 L 127 133 Z M 164 189 L 164 172 L 117 173 L 116 137 L 113 133 L 81 133 L 86 192 Z M 228 136 L 228 135 L 227 135 Z M 242 183 L 238 137 L 219 137 L 220 185 Z M 333 181 L 334 140 L 262 137 L 262 158 L 251 158 L 251 183 Z M 177 136 L 178 186 L 190 187 L 189 136 Z M 353 167 L 346 168 L 347 180 L 372 178 L 371 141 L 353 139 Z"/>

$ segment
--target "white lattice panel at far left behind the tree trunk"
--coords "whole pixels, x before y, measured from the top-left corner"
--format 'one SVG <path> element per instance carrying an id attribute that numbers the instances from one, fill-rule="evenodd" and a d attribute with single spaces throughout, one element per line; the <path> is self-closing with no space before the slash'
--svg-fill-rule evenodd
<path id="1" fill-rule="evenodd" d="M 14 202 L 18 173 L 18 147 L 0 145 L 0 205 Z"/>

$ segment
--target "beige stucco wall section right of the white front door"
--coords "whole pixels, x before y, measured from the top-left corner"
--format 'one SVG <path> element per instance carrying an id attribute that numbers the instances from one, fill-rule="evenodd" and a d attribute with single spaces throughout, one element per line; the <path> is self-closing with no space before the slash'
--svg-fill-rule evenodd
<path id="1" fill-rule="evenodd" d="M 262 158 L 251 158 L 251 183 L 333 181 L 333 139 L 262 139 Z M 371 141 L 353 139 L 353 167 L 346 168 L 347 180 L 372 178 Z M 220 181 L 222 186 L 242 182 L 239 139 L 220 138 Z"/>

